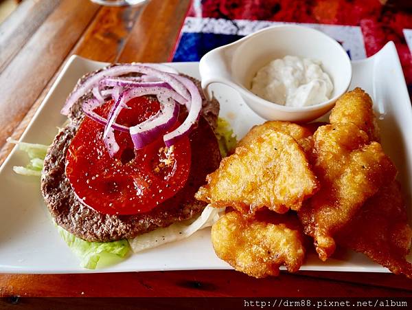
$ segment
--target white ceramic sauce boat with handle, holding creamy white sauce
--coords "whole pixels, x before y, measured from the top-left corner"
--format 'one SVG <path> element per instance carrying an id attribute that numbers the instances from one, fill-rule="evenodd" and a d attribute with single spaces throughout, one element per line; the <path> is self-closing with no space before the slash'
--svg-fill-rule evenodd
<path id="1" fill-rule="evenodd" d="M 320 60 L 334 90 L 330 100 L 309 107 L 285 107 L 256 96 L 249 89 L 258 69 L 286 55 Z M 345 49 L 330 36 L 299 25 L 275 25 L 211 50 L 199 65 L 202 88 L 210 99 L 209 86 L 223 83 L 240 93 L 244 102 L 266 120 L 309 122 L 332 109 L 352 79 L 352 65 Z"/>

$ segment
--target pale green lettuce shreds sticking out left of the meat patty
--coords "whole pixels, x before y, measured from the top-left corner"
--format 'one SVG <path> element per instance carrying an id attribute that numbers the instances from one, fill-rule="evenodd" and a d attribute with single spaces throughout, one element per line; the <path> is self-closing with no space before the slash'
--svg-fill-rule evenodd
<path id="1" fill-rule="evenodd" d="M 19 142 L 11 139 L 10 137 L 7 142 L 17 144 L 19 146 L 19 150 L 24 151 L 30 157 L 30 164 L 27 164 L 25 167 L 14 166 L 14 172 L 19 175 L 40 177 L 47 148 L 49 148 L 49 146 L 44 144 Z"/>

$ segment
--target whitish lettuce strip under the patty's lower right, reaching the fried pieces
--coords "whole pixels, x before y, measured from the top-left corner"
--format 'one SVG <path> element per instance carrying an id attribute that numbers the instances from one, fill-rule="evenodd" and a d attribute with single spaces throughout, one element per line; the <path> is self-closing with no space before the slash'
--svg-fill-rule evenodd
<path id="1" fill-rule="evenodd" d="M 128 242 L 133 252 L 137 253 L 158 247 L 165 243 L 188 238 L 194 234 L 194 232 L 216 223 L 219 219 L 219 213 L 222 212 L 222 210 L 225 210 L 225 208 L 213 208 L 209 205 L 194 221 L 181 221 L 173 223 L 166 228 L 157 228 L 157 230 L 141 234 L 135 239 L 129 239 Z"/>

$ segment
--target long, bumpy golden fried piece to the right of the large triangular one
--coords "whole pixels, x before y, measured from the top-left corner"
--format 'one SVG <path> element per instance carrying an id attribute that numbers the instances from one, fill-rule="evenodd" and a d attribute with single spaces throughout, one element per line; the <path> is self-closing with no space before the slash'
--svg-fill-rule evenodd
<path id="1" fill-rule="evenodd" d="M 314 133 L 312 163 L 321 189 L 298 214 L 325 261 L 335 250 L 334 234 L 395 178 L 396 168 L 380 144 L 369 143 L 367 134 L 353 123 L 319 127 Z"/>

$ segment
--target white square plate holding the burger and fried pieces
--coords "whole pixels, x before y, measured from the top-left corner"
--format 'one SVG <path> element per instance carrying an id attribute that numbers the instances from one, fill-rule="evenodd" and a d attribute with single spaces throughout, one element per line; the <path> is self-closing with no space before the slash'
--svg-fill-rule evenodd
<path id="1" fill-rule="evenodd" d="M 106 63 L 72 56 L 21 140 L 50 144 L 57 133 L 56 127 L 65 122 L 60 109 L 78 78 L 104 65 Z M 199 78 L 198 63 L 168 65 Z M 393 43 L 388 43 L 375 56 L 353 63 L 351 89 L 356 86 L 365 89 L 374 99 L 383 147 L 399 169 L 402 191 L 407 198 L 407 206 L 411 206 L 412 110 Z M 224 85 L 214 85 L 213 90 L 220 101 L 220 116 L 231 122 L 238 137 L 247 133 L 254 124 L 264 122 L 242 102 L 236 91 Z M 184 241 L 133 254 L 122 263 L 106 269 L 83 269 L 78 258 L 60 239 L 50 219 L 41 197 L 39 179 L 13 172 L 13 166 L 25 164 L 25 153 L 14 148 L 0 168 L 0 272 L 54 274 L 231 268 L 214 254 L 210 230 L 206 229 Z M 411 215 L 409 208 L 410 219 Z M 315 255 L 309 255 L 301 270 L 387 272 L 387 269 L 354 252 L 339 254 L 339 257 L 331 258 L 326 263 L 319 261 Z"/>

